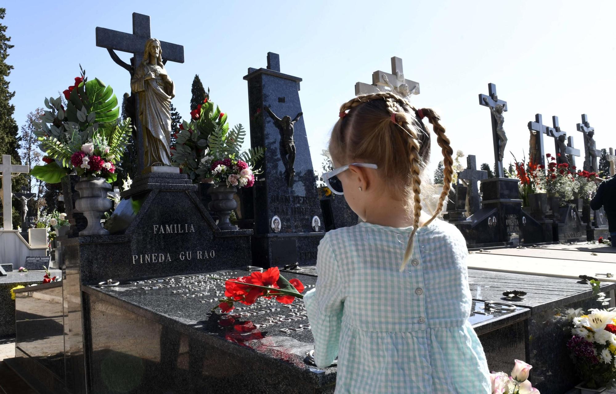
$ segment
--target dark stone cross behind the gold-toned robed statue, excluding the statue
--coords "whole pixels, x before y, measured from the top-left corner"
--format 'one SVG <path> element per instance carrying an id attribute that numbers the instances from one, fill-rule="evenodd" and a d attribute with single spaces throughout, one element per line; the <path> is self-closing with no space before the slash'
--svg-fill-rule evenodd
<path id="1" fill-rule="evenodd" d="M 107 49 L 111 59 L 122 68 L 127 70 L 132 77 L 136 66 L 142 62 L 144 58 L 145 42 L 148 38 L 151 38 L 150 34 L 150 17 L 148 15 L 132 13 L 132 34 L 124 33 L 123 31 L 111 30 L 107 28 L 96 28 L 96 46 Z M 184 63 L 184 46 L 178 44 L 171 44 L 170 42 L 160 42 L 161 52 L 163 56 L 163 64 L 166 64 L 168 60 L 176 63 Z M 129 52 L 132 54 L 131 63 L 128 64 L 121 60 L 121 58 L 114 51 L 120 50 L 122 52 Z M 139 95 L 134 95 L 134 107 L 136 111 L 139 108 Z M 137 158 L 139 163 L 137 167 L 139 172 L 144 169 L 144 147 L 143 147 L 143 135 L 141 134 L 141 121 L 139 119 L 139 113 L 135 113 L 132 116 L 132 124 L 136 127 L 137 131 L 135 136 L 137 138 Z"/>

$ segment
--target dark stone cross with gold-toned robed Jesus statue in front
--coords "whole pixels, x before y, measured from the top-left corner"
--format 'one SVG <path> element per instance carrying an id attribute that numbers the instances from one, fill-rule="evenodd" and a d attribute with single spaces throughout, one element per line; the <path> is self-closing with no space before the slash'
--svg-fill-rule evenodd
<path id="1" fill-rule="evenodd" d="M 151 38 L 150 17 L 136 12 L 132 14 L 132 34 L 97 27 L 96 46 L 107 49 L 113 61 L 131 74 L 139 171 L 176 172 L 169 150 L 169 105 L 175 90 L 164 65 L 169 60 L 184 63 L 184 47 Z M 131 53 L 131 64 L 123 62 L 115 50 Z"/>

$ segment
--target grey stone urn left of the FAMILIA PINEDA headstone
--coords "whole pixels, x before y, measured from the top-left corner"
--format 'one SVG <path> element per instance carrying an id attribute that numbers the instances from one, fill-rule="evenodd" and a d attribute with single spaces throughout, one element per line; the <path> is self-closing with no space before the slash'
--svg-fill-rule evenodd
<path id="1" fill-rule="evenodd" d="M 79 231 L 79 236 L 109 235 L 109 231 L 100 224 L 100 219 L 113 207 L 113 201 L 107 198 L 107 192 L 111 191 L 110 183 L 104 178 L 82 178 L 75 185 L 75 190 L 79 191 L 75 208 L 87 219 L 87 227 Z"/>

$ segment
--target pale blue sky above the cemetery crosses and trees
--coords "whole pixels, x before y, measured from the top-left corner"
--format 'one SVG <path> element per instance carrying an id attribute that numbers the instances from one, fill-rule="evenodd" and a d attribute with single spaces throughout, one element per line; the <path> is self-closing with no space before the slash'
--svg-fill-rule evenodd
<path id="1" fill-rule="evenodd" d="M 5 2 L 6 3 L 6 2 Z M 89 4 L 90 3 L 90 4 Z M 152 36 L 184 45 L 185 63 L 168 63 L 176 83 L 174 105 L 189 116 L 190 86 L 199 74 L 230 124 L 248 128 L 248 67 L 265 67 L 267 52 L 280 54 L 281 71 L 304 79 L 299 93 L 315 168 L 322 161 L 338 107 L 357 81 L 391 71 L 403 59 L 405 76 L 421 84 L 416 107 L 439 111 L 454 150 L 493 163 L 489 111 L 478 103 L 488 82 L 508 102 L 508 151 L 528 151 L 527 123 L 560 118 L 573 135 L 588 113 L 598 148 L 615 147 L 614 15 L 616 3 L 597 1 L 84 1 L 9 0 L 2 23 L 15 45 L 10 87 L 15 119 L 57 97 L 79 73 L 110 84 L 118 97 L 129 90 L 128 72 L 95 46 L 95 27 L 132 32 L 131 14 L 151 17 Z M 128 54 L 121 54 L 128 60 Z M 546 139 L 547 151 L 554 151 Z M 437 161 L 439 153 L 433 155 Z M 511 156 L 507 153 L 506 161 Z M 578 164 L 583 159 L 578 159 Z M 434 164 L 433 164 L 434 166 Z"/>

